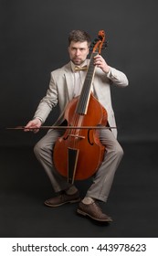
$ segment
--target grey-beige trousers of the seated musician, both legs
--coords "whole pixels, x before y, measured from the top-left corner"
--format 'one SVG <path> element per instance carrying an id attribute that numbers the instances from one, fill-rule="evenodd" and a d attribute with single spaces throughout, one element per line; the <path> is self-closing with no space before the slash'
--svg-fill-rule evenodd
<path id="1" fill-rule="evenodd" d="M 47 172 L 47 176 L 55 192 L 71 187 L 67 182 L 67 178 L 60 176 L 53 165 L 53 147 L 57 138 L 63 133 L 63 129 L 48 131 L 34 148 L 37 160 Z M 104 159 L 99 170 L 93 176 L 93 183 L 88 189 L 86 197 L 92 197 L 106 202 L 111 190 L 115 171 L 121 162 L 123 150 L 110 130 L 100 130 L 100 143 L 106 145 Z"/>

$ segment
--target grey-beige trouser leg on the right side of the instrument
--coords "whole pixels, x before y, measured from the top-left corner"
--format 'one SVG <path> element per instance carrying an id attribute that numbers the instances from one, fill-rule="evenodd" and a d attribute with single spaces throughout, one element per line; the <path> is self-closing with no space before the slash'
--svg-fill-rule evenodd
<path id="1" fill-rule="evenodd" d="M 111 190 L 115 171 L 121 162 L 123 150 L 110 130 L 100 131 L 100 142 L 105 145 L 106 152 L 99 170 L 93 176 L 93 183 L 86 197 L 92 197 L 106 202 Z"/>

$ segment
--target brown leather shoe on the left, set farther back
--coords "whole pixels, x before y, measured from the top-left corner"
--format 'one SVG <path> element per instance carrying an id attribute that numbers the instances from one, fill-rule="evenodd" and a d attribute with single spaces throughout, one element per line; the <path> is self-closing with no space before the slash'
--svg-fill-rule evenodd
<path id="1" fill-rule="evenodd" d="M 55 207 L 59 207 L 64 204 L 67 204 L 67 203 L 76 203 L 79 201 L 80 201 L 79 191 L 77 191 L 73 195 L 68 195 L 65 192 L 62 192 L 62 194 L 58 195 L 57 197 L 52 197 L 52 198 L 47 199 L 44 202 L 44 204 L 47 207 L 55 208 Z"/>

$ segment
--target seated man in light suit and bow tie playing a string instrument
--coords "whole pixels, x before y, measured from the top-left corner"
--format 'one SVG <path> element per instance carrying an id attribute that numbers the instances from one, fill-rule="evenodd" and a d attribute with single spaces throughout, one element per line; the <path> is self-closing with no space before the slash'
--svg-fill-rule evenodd
<path id="1" fill-rule="evenodd" d="M 86 77 L 85 70 L 76 71 L 76 66 L 89 65 L 87 59 L 90 50 L 90 36 L 80 30 L 73 30 L 68 36 L 68 54 L 70 61 L 61 69 L 51 72 L 51 79 L 47 95 L 39 102 L 34 119 L 26 124 L 25 131 L 37 132 L 42 123 L 47 119 L 49 112 L 58 103 L 60 115 L 54 125 L 64 122 L 64 112 L 68 101 L 78 96 Z M 112 84 L 119 87 L 128 85 L 127 77 L 121 71 L 111 68 L 100 55 L 94 57 L 95 76 L 92 84 L 92 92 L 108 112 L 108 123 L 115 126 L 115 118 L 111 105 Z M 79 67 L 78 67 L 79 68 Z M 58 207 L 66 203 L 80 201 L 79 190 L 74 185 L 68 184 L 65 177 L 60 176 L 53 164 L 53 147 L 58 137 L 64 133 L 63 129 L 51 129 L 35 146 L 35 154 L 43 165 L 50 182 L 57 193 L 45 201 L 48 207 Z M 77 212 L 83 216 L 98 221 L 111 221 L 111 217 L 102 212 L 99 201 L 106 202 L 111 190 L 113 176 L 121 162 L 123 151 L 118 143 L 117 131 L 109 129 L 100 130 L 100 143 L 106 145 L 106 151 L 100 168 L 93 176 L 93 183 L 89 187 L 85 197 L 79 202 Z"/>

